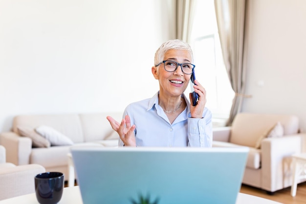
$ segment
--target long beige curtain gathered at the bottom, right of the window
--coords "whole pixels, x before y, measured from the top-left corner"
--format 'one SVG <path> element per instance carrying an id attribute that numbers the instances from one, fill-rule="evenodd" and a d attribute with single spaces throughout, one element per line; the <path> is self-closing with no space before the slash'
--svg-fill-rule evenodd
<path id="1" fill-rule="evenodd" d="M 241 111 L 245 92 L 245 22 L 247 0 L 215 0 L 222 54 L 235 97 L 227 126 Z"/>

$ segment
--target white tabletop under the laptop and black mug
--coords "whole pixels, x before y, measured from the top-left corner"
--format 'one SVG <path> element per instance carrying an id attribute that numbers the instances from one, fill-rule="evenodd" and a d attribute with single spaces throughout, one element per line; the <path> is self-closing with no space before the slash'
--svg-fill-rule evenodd
<path id="1" fill-rule="evenodd" d="M 39 204 L 35 193 L 0 201 L 0 204 Z M 83 204 L 79 186 L 66 187 L 58 204 Z M 264 198 L 239 193 L 236 204 L 281 204 Z"/>

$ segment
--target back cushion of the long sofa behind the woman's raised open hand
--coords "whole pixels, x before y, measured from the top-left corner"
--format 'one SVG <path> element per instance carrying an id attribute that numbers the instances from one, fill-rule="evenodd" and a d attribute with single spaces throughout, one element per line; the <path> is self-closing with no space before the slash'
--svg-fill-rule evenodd
<path id="1" fill-rule="evenodd" d="M 115 120 L 121 122 L 122 113 L 83 113 L 80 114 L 80 120 L 83 127 L 83 135 L 85 141 L 97 141 L 103 139 L 117 139 L 111 128 L 107 116 L 113 117 Z"/>

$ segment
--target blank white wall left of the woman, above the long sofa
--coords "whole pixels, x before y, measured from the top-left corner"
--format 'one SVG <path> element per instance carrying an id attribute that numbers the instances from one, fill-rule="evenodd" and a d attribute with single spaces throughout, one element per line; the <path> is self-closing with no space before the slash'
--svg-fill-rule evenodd
<path id="1" fill-rule="evenodd" d="M 169 0 L 1 0 L 0 132 L 17 114 L 123 111 L 153 96 L 171 16 Z"/>

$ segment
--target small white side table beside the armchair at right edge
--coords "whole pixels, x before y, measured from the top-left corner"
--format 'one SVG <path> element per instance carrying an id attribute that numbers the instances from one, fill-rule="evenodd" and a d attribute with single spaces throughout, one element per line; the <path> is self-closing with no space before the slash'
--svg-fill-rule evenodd
<path id="1" fill-rule="evenodd" d="M 298 181 L 306 179 L 306 153 L 292 155 L 293 177 L 291 185 L 291 196 L 296 195 Z"/>

